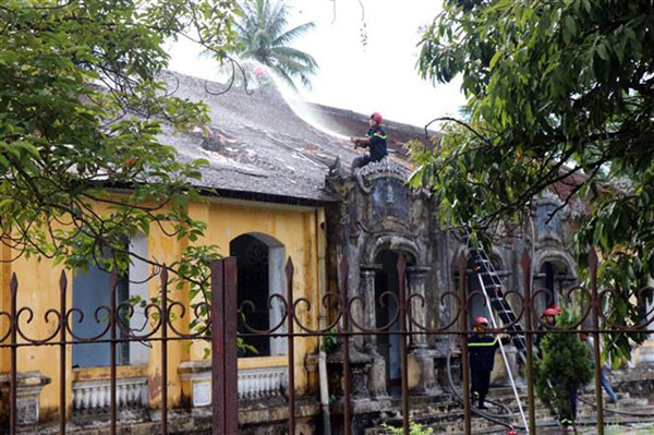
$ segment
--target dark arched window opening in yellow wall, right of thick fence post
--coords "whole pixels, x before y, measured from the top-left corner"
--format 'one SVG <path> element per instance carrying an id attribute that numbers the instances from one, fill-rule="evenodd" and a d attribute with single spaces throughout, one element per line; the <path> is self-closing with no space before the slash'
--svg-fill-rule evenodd
<path id="1" fill-rule="evenodd" d="M 282 305 L 272 299 L 272 294 L 281 294 L 286 299 L 284 249 L 275 238 L 263 233 L 239 235 L 229 244 L 231 256 L 237 257 L 239 270 L 238 303 L 243 307 L 244 318 L 239 322 L 239 333 L 249 334 L 243 325 L 266 330 L 277 325 L 281 316 Z M 249 301 L 254 305 L 254 311 Z M 245 303 L 245 304 L 244 304 Z M 279 331 L 284 331 L 280 328 Z M 286 340 L 265 336 L 244 337 L 246 345 L 253 346 L 257 352 L 242 352 L 240 357 L 268 357 L 286 354 Z"/>

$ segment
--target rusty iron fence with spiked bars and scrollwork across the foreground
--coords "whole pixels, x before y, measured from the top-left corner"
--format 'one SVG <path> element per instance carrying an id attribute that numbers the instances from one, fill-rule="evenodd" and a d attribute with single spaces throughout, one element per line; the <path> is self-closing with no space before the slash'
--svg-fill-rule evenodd
<path id="1" fill-rule="evenodd" d="M 605 333 L 654 333 L 651 324 L 654 319 L 653 311 L 643 313 L 642 322 L 633 325 L 616 325 L 603 313 L 603 303 L 611 298 L 610 289 L 597 288 L 597 257 L 595 251 L 589 253 L 590 264 L 590 285 L 588 288 L 576 286 L 565 291 L 565 302 L 574 300 L 581 306 L 581 315 L 574 325 L 549 329 L 555 334 L 578 334 L 585 331 L 594 336 L 594 370 L 595 370 L 595 397 L 596 397 L 596 420 L 597 431 L 603 433 L 604 416 L 602 403 L 601 386 L 601 349 L 600 335 Z M 184 306 L 182 303 L 172 301 L 168 297 L 168 274 L 164 269 L 160 274 L 160 295 L 155 302 L 145 306 L 145 313 L 150 327 L 146 333 L 140 333 L 130 327 L 125 322 L 125 316 L 133 313 L 133 306 L 129 302 L 117 303 L 116 298 L 116 277 L 112 277 L 110 304 L 99 306 L 95 311 L 96 322 L 100 322 L 102 314 L 106 322 L 105 329 L 93 337 L 82 337 L 73 331 L 72 322 L 85 314 L 77 309 L 66 306 L 69 281 L 65 274 L 62 273 L 59 292 L 60 306 L 50 309 L 45 313 L 44 321 L 51 326 L 51 331 L 47 337 L 31 337 L 24 331 L 23 323 L 31 323 L 35 313 L 28 306 L 17 306 L 19 281 L 15 276 L 12 277 L 10 292 L 11 302 L 9 312 L 0 312 L 0 321 L 8 325 L 7 330 L 0 330 L 0 351 L 9 349 L 11 354 L 10 364 L 10 412 L 9 412 L 9 434 L 15 435 L 16 425 L 16 392 L 17 392 L 17 353 L 26 347 L 51 346 L 58 347 L 60 351 L 59 376 L 60 387 L 60 411 L 59 411 L 59 433 L 65 434 L 66 431 L 66 391 L 65 376 L 69 362 L 66 361 L 66 347 L 70 345 L 104 342 L 110 348 L 110 406 L 109 406 L 109 431 L 112 435 L 117 433 L 117 347 L 125 341 L 138 342 L 159 342 L 160 364 L 161 364 L 161 434 L 168 434 L 168 343 L 174 340 L 210 340 L 211 347 L 211 407 L 213 407 L 213 426 L 214 435 L 237 434 L 238 426 L 238 374 L 237 374 L 237 336 L 238 322 L 244 322 L 242 337 L 264 336 L 269 338 L 284 338 L 287 342 L 288 358 L 288 433 L 295 434 L 296 397 L 295 397 L 295 355 L 294 339 L 302 337 L 340 337 L 340 347 L 342 355 L 342 433 L 352 433 L 352 402 L 353 392 L 351 380 L 351 351 L 352 339 L 356 336 L 400 336 L 400 361 L 401 361 L 401 415 L 403 433 L 409 434 L 410 423 L 410 391 L 409 391 L 409 368 L 408 368 L 408 339 L 411 336 L 450 336 L 456 337 L 461 343 L 461 376 L 462 387 L 462 407 L 464 410 L 463 428 L 465 434 L 471 433 L 471 416 L 476 411 L 471 408 L 470 401 L 470 375 L 468 358 L 468 337 L 472 333 L 469 327 L 470 306 L 473 299 L 484 298 L 481 292 L 467 291 L 468 262 L 461 255 L 457 263 L 459 271 L 459 282 L 453 285 L 452 289 L 440 292 L 437 303 L 448 304 L 449 316 L 446 321 L 440 321 L 436 327 L 429 327 L 429 318 L 424 315 L 416 315 L 416 310 L 425 310 L 426 299 L 424 294 L 408 294 L 405 287 L 407 259 L 403 254 L 399 254 L 397 263 L 398 271 L 398 291 L 386 291 L 379 295 L 379 301 L 375 303 L 388 303 L 395 301 L 396 312 L 389 316 L 388 324 L 382 327 L 371 328 L 360 318 L 360 313 L 365 306 L 365 301 L 348 286 L 348 264 L 342 261 L 338 265 L 337 290 L 322 295 L 320 301 L 311 301 L 306 298 L 295 298 L 293 295 L 293 265 L 289 259 L 286 267 L 287 292 L 286 294 L 274 294 L 268 300 L 276 300 L 282 306 L 281 318 L 275 325 L 262 330 L 250 326 L 244 321 L 244 316 L 238 313 L 243 305 L 254 306 L 252 301 L 246 301 L 238 306 L 237 295 L 237 262 L 235 258 L 225 258 L 215 261 L 211 264 L 210 280 L 210 300 L 194 305 L 193 310 Z M 491 329 L 492 333 L 508 335 L 521 334 L 526 342 L 526 364 L 524 366 L 526 375 L 526 400 L 529 433 L 535 434 L 535 397 L 533 387 L 533 341 L 540 334 L 538 316 L 535 313 L 534 301 L 543 293 L 549 292 L 546 289 L 532 289 L 532 267 L 531 258 L 525 251 L 521 263 L 523 271 L 522 291 L 506 291 L 505 298 L 511 301 L 511 306 L 516 313 L 514 323 L 520 323 L 521 328 L 517 331 L 511 326 L 502 325 L 497 329 Z M 645 288 L 642 292 L 651 292 L 652 288 Z M 370 302 L 368 302 L 370 303 Z M 319 307 L 316 305 L 319 304 Z M 371 310 L 371 307 L 367 307 Z M 374 309 L 374 307 L 373 307 Z M 311 327 L 312 324 L 303 322 L 303 318 L 317 318 L 318 311 L 324 310 L 329 313 L 329 321 L 320 327 Z M 437 312 L 438 310 L 432 310 Z M 208 313 L 208 322 L 204 326 L 191 333 L 183 333 L 175 322 L 191 316 L 199 316 L 201 313 Z M 308 316 L 306 316 L 308 314 Z M 87 315 L 89 315 L 87 313 Z M 589 326 L 590 325 L 590 326 Z M 109 334 L 109 338 L 106 335 Z"/>

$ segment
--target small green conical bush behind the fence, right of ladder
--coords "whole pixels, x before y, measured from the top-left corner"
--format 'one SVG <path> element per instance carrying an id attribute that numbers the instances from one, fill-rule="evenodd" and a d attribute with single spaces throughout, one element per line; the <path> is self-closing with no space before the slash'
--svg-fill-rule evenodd
<path id="1" fill-rule="evenodd" d="M 564 311 L 557 316 L 556 326 L 570 326 L 577 321 L 577 316 Z M 593 377 L 586 346 L 577 334 L 548 333 L 541 349 L 543 358 L 534 367 L 536 394 L 559 418 L 570 415 L 569 388 L 579 388 Z"/>

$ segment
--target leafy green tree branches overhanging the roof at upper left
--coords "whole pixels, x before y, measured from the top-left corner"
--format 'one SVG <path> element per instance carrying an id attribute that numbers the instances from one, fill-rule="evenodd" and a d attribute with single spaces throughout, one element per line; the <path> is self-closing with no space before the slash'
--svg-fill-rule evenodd
<path id="1" fill-rule="evenodd" d="M 207 107 L 170 95 L 165 45 L 233 48 L 235 0 L 4 0 L 0 5 L 0 240 L 20 256 L 123 274 L 126 241 L 157 229 L 196 241 L 205 223 L 164 123 L 202 128 Z M 215 249 L 213 249 L 215 251 Z M 110 252 L 111 255 L 102 255 Z M 186 261 L 169 266 L 193 280 Z M 131 256 L 132 255 L 132 256 Z M 155 258 L 141 258 L 161 266 Z M 198 283 L 202 281 L 195 280 Z"/>

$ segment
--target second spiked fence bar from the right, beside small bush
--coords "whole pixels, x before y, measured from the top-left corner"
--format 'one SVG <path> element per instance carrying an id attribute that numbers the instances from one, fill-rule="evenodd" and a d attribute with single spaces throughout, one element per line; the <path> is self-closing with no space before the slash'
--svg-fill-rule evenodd
<path id="1" fill-rule="evenodd" d="M 536 433 L 536 404 L 534 400 L 534 352 L 533 352 L 533 310 L 531 295 L 531 258 L 526 247 L 522 252 L 522 279 L 524 287 L 524 329 L 525 329 L 525 352 L 526 352 L 526 403 L 529 407 L 529 433 Z"/>

